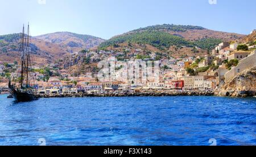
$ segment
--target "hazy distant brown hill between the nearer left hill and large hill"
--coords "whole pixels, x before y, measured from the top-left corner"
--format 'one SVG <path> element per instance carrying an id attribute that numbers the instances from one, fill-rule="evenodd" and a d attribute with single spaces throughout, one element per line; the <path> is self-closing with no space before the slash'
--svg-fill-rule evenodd
<path id="1" fill-rule="evenodd" d="M 90 49 L 105 41 L 104 39 L 95 36 L 75 34 L 72 32 L 55 32 L 52 34 L 35 36 L 35 38 L 52 44 L 58 44 L 71 53 L 81 51 L 81 49 Z"/>

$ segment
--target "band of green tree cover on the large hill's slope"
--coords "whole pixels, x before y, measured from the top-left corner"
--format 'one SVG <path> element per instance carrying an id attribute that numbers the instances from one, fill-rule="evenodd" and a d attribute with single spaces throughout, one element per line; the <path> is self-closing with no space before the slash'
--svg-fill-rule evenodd
<path id="1" fill-rule="evenodd" d="M 212 49 L 218 43 L 221 43 L 221 39 L 201 39 L 196 40 L 195 42 L 190 42 L 181 38 L 180 36 L 175 36 L 168 34 L 167 32 L 162 31 L 151 31 L 146 30 L 142 32 L 135 32 L 132 34 L 126 34 L 117 36 L 106 42 L 100 44 L 100 48 L 106 48 L 109 46 L 118 47 L 120 43 L 137 43 L 137 44 L 149 44 L 150 46 L 154 46 L 160 50 L 168 49 L 171 46 L 176 47 L 200 47 L 202 49 Z"/>

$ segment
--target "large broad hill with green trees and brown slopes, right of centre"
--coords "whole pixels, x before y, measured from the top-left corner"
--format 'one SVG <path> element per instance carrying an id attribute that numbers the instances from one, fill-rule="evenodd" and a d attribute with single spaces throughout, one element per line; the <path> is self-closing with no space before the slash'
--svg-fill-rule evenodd
<path id="1" fill-rule="evenodd" d="M 207 52 L 208 49 L 212 49 L 222 41 L 237 40 L 244 37 L 245 35 L 213 31 L 199 26 L 163 24 L 139 28 L 114 36 L 101 43 L 99 48 L 115 50 L 120 47 L 120 44 L 128 43 L 129 45 L 147 44 L 155 47 L 159 52 L 169 51 L 172 46 L 177 48 L 187 47 L 189 51 L 193 47 L 198 47 Z"/>

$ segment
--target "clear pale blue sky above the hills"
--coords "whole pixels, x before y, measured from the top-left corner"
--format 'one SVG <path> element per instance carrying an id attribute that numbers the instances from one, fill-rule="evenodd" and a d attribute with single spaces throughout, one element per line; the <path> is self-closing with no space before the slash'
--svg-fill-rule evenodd
<path id="1" fill-rule="evenodd" d="M 255 0 L 0 0 L 0 35 L 69 31 L 103 39 L 155 24 L 184 24 L 250 34 Z"/>

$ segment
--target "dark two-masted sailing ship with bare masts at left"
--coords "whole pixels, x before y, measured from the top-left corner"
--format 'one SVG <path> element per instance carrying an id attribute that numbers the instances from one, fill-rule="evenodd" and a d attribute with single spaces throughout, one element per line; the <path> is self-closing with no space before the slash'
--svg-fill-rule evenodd
<path id="1" fill-rule="evenodd" d="M 19 81 L 19 86 L 16 86 L 16 81 L 14 84 L 11 84 L 9 81 L 9 88 L 11 90 L 11 95 L 13 96 L 16 102 L 27 102 L 38 100 L 36 97 L 36 88 L 30 84 L 30 71 L 31 67 L 31 58 L 30 58 L 30 36 L 29 36 L 30 25 L 28 24 L 27 28 L 27 38 L 24 34 L 24 26 L 22 32 L 22 41 L 21 41 L 21 57 L 18 67 L 17 79 Z M 32 76 L 33 77 L 33 76 Z M 33 78 L 34 80 L 34 78 Z M 34 84 L 35 85 L 35 84 Z"/>

